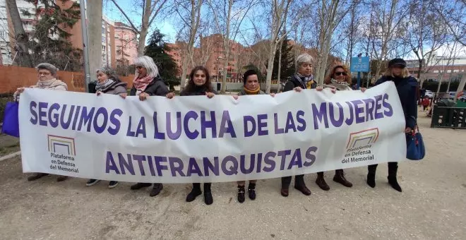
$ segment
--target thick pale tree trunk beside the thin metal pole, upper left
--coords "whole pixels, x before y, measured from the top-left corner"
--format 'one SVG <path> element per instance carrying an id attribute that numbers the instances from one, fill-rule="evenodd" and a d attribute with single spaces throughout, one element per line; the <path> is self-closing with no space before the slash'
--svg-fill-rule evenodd
<path id="1" fill-rule="evenodd" d="M 86 12 L 89 20 L 88 52 L 90 76 L 92 80 L 96 80 L 95 71 L 102 67 L 102 0 L 92 1 L 92 6 L 88 5 Z M 105 37 L 107 37 L 107 32 L 105 32 Z"/>

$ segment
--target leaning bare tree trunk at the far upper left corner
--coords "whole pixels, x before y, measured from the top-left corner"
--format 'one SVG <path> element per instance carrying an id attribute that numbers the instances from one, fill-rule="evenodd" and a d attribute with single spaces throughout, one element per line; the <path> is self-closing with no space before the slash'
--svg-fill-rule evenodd
<path id="1" fill-rule="evenodd" d="M 6 0 L 6 7 L 8 8 L 8 13 L 10 13 L 13 30 L 15 31 L 16 44 L 18 44 L 18 49 L 16 51 L 18 51 L 20 56 L 20 66 L 33 68 L 34 65 L 32 64 L 28 47 L 29 37 L 24 31 L 23 21 L 21 20 L 16 0 Z"/>

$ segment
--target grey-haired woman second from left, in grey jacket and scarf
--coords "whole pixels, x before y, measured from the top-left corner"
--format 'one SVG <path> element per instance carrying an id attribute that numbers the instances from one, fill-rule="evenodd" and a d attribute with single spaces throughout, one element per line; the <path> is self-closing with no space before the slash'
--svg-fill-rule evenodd
<path id="1" fill-rule="evenodd" d="M 117 73 L 108 67 L 104 66 L 97 70 L 97 85 L 95 85 L 95 93 L 98 95 L 111 94 L 126 97 L 126 83 L 121 82 Z M 85 186 L 93 186 L 100 180 L 89 179 Z M 118 185 L 118 181 L 110 181 L 109 188 L 114 188 Z"/>

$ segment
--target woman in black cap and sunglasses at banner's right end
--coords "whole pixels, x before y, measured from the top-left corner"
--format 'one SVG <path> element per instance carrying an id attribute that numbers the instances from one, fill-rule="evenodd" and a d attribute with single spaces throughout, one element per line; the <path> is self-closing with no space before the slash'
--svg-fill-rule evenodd
<path id="1" fill-rule="evenodd" d="M 387 81 L 395 83 L 403 113 L 405 114 L 405 133 L 411 133 L 417 125 L 417 80 L 408 73 L 405 60 L 390 60 L 385 75 L 378 79 L 375 85 Z M 372 188 L 376 186 L 376 169 L 377 164 L 368 166 L 367 184 Z M 401 186 L 396 179 L 397 172 L 398 162 L 388 162 L 388 184 L 396 191 L 401 192 Z"/>

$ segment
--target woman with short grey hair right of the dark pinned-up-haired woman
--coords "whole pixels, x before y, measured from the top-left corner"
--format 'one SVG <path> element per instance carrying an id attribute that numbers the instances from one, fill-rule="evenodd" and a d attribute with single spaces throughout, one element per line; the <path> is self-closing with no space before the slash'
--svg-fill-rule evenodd
<path id="1" fill-rule="evenodd" d="M 283 92 L 295 90 L 301 92 L 302 89 L 316 88 L 316 83 L 312 76 L 312 61 L 313 58 L 309 54 L 301 54 L 296 59 L 297 72 L 285 84 Z M 282 189 L 280 193 L 287 197 L 289 194 L 289 184 L 291 184 L 292 176 L 282 177 Z M 304 174 L 294 176 L 294 188 L 306 196 L 311 195 L 311 190 L 304 183 Z"/>

